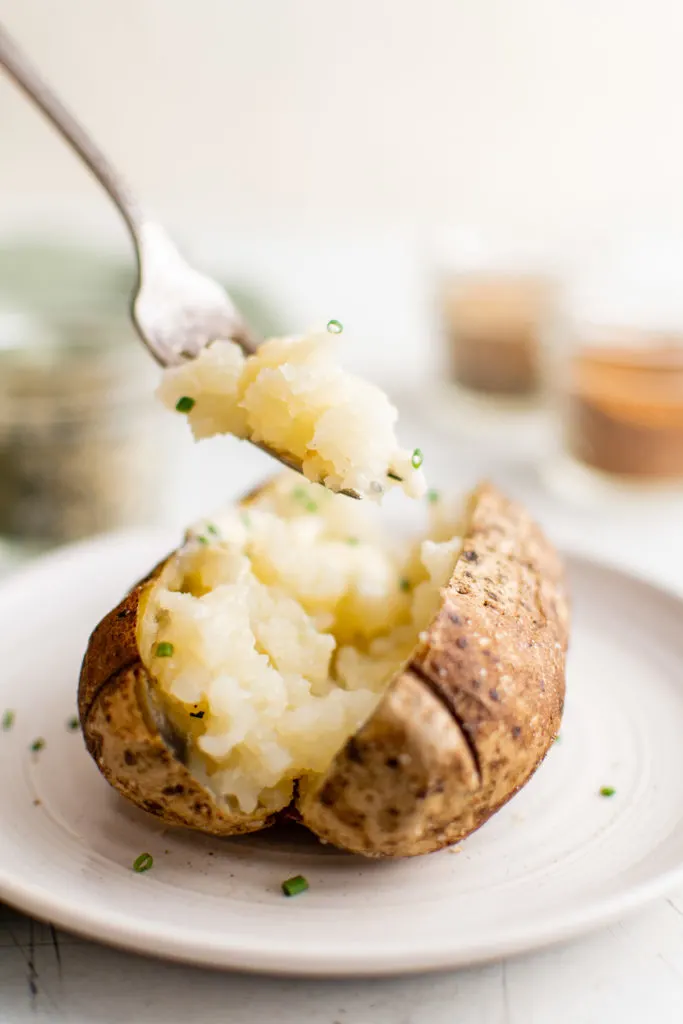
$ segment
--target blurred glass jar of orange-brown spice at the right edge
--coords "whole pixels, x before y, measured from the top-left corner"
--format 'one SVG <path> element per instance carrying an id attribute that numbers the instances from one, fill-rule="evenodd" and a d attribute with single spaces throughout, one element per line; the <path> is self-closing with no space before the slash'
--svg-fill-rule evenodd
<path id="1" fill-rule="evenodd" d="M 559 451 L 547 476 L 574 497 L 683 495 L 683 304 L 665 266 L 625 254 L 569 294 L 549 361 Z"/>

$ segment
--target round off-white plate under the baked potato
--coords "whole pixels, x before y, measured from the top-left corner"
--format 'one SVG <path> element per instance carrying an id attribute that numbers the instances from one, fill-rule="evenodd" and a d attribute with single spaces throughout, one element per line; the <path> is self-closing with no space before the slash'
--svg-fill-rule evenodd
<path id="1" fill-rule="evenodd" d="M 140 952 L 372 975 L 542 946 L 683 884 L 683 602 L 575 558 L 561 742 L 459 852 L 367 862 L 296 831 L 168 833 L 128 807 L 67 723 L 90 628 L 174 541 L 105 538 L 0 589 L 0 712 L 16 715 L 0 732 L 1 898 Z M 154 868 L 136 874 L 142 851 Z M 298 873 L 310 890 L 286 899 Z"/>

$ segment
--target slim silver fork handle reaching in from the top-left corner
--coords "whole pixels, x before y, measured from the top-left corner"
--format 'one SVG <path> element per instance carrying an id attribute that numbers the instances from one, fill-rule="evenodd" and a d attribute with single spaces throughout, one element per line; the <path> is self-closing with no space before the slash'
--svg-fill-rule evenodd
<path id="1" fill-rule="evenodd" d="M 137 200 L 97 143 L 67 110 L 2 25 L 0 25 L 0 66 L 40 108 L 109 193 L 121 211 L 137 248 L 138 230 L 146 219 Z"/>

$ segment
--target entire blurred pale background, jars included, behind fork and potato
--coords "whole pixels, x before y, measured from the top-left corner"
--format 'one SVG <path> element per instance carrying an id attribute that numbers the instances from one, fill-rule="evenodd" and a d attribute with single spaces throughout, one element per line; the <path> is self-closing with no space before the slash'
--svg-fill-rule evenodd
<path id="1" fill-rule="evenodd" d="M 0 22 L 260 331 L 343 322 L 430 480 L 675 540 L 676 0 L 0 0 Z M 269 468 L 157 410 L 132 280 L 106 198 L 0 74 L 6 558 L 180 525 Z"/>

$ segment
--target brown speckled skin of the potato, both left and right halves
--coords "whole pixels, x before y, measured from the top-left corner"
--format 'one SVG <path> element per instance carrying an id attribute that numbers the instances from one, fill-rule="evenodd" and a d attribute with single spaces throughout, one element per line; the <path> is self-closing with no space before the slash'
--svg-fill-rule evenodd
<path id="1" fill-rule="evenodd" d="M 464 535 L 411 663 L 285 812 L 342 849 L 405 857 L 459 842 L 528 780 L 559 729 L 569 618 L 562 564 L 527 513 L 487 483 L 471 496 Z M 217 805 L 150 712 L 137 614 L 163 564 L 90 638 L 79 686 L 86 745 L 112 785 L 169 824 L 220 836 L 263 828 L 272 815 Z"/>

